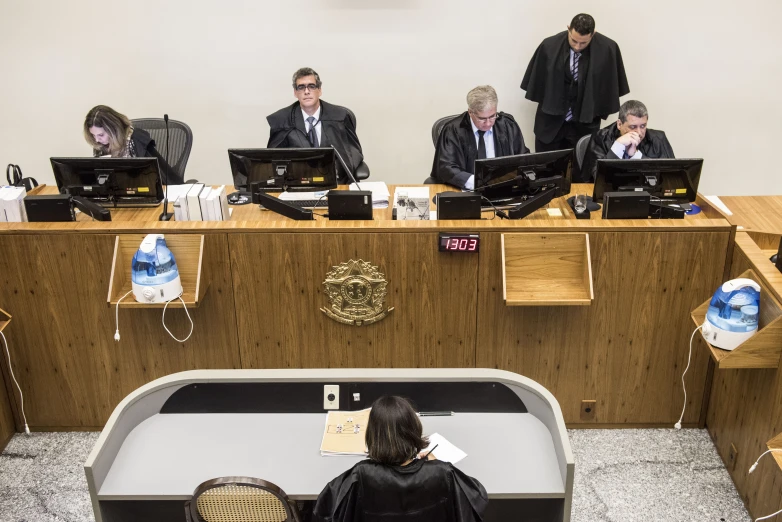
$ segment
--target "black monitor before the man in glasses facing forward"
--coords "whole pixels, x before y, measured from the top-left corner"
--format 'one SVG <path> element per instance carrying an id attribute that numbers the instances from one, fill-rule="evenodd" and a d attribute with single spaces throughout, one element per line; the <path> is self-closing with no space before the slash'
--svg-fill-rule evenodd
<path id="1" fill-rule="evenodd" d="M 256 183 L 266 192 L 337 188 L 333 147 L 317 149 L 228 149 L 234 186 L 243 191 Z"/>

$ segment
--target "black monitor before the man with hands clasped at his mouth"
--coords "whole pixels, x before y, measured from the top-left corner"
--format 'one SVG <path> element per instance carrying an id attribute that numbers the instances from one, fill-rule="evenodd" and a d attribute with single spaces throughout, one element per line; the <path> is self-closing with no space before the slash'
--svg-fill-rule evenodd
<path id="1" fill-rule="evenodd" d="M 604 192 L 644 190 L 663 200 L 695 201 L 703 159 L 597 160 L 592 199 Z"/>

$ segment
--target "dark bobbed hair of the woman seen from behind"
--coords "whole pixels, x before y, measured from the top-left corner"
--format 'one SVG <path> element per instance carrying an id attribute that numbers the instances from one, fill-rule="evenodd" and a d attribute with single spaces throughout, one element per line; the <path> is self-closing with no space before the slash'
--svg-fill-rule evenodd
<path id="1" fill-rule="evenodd" d="M 407 399 L 384 395 L 372 404 L 366 433 L 369 458 L 397 466 L 429 445 L 413 406 Z"/>

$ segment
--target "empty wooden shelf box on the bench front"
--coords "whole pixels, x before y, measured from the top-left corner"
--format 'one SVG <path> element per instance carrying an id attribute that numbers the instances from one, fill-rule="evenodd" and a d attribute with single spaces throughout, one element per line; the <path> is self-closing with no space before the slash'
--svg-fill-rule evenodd
<path id="1" fill-rule="evenodd" d="M 584 306 L 595 298 L 589 234 L 502 234 L 507 306 Z"/>

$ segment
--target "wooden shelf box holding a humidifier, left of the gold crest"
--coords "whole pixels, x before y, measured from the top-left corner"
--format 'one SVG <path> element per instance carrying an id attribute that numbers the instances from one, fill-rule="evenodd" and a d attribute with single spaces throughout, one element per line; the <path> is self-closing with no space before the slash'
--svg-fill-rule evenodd
<path id="1" fill-rule="evenodd" d="M 108 304 L 117 301 L 131 289 L 130 265 L 145 234 L 117 236 L 114 241 L 114 260 L 109 282 Z M 187 308 L 198 308 L 204 298 L 208 282 L 201 280 L 204 259 L 204 236 L 195 234 L 165 234 L 166 245 L 176 259 L 179 278 L 182 280 L 182 299 Z M 165 303 L 139 303 L 133 295 L 122 300 L 122 308 L 163 308 Z M 171 301 L 169 308 L 182 308 L 179 299 Z"/>

